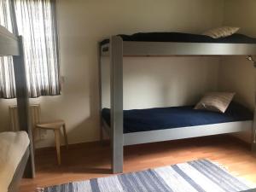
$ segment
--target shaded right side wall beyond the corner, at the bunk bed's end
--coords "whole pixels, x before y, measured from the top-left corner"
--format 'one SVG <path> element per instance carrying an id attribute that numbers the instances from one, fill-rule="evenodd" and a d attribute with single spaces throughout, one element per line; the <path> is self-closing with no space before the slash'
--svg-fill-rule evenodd
<path id="1" fill-rule="evenodd" d="M 224 25 L 241 27 L 242 34 L 256 38 L 256 1 L 226 0 Z M 236 91 L 236 100 L 253 110 L 255 93 L 255 69 L 245 56 L 224 57 L 219 67 L 219 86 L 222 90 Z M 251 134 L 240 135 L 250 142 Z"/>

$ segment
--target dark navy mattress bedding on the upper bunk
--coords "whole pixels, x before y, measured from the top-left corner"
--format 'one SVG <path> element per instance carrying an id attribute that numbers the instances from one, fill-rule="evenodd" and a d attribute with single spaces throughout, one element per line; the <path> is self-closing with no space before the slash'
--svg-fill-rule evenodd
<path id="1" fill-rule="evenodd" d="M 183 32 L 138 32 L 132 35 L 118 35 L 123 41 L 142 42 L 180 42 L 180 43 L 216 43 L 216 44 L 256 44 L 256 38 L 235 33 L 226 38 L 211 38 L 206 35 L 190 34 Z M 108 44 L 109 39 L 101 42 Z"/>

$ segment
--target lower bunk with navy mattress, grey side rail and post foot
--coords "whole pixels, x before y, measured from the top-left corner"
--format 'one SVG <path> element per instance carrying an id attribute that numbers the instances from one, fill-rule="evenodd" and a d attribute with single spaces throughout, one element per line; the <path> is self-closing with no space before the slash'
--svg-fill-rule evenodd
<path id="1" fill-rule="evenodd" d="M 253 131 L 253 112 L 231 102 L 225 113 L 194 106 L 124 110 L 123 137 L 113 136 L 111 110 L 102 109 L 102 128 L 113 144 L 113 172 L 122 172 L 123 146 Z"/>

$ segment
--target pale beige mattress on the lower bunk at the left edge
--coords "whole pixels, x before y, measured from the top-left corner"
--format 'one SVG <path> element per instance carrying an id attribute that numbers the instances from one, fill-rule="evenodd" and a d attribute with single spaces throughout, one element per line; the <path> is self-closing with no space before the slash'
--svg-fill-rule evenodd
<path id="1" fill-rule="evenodd" d="M 0 133 L 0 191 L 7 192 L 30 141 L 26 131 Z"/>

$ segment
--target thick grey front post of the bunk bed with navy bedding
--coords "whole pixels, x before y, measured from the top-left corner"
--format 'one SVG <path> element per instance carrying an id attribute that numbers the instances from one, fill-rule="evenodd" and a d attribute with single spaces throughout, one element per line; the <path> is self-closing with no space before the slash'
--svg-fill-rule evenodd
<path id="1" fill-rule="evenodd" d="M 110 39 L 112 170 L 123 172 L 123 40 Z"/>

